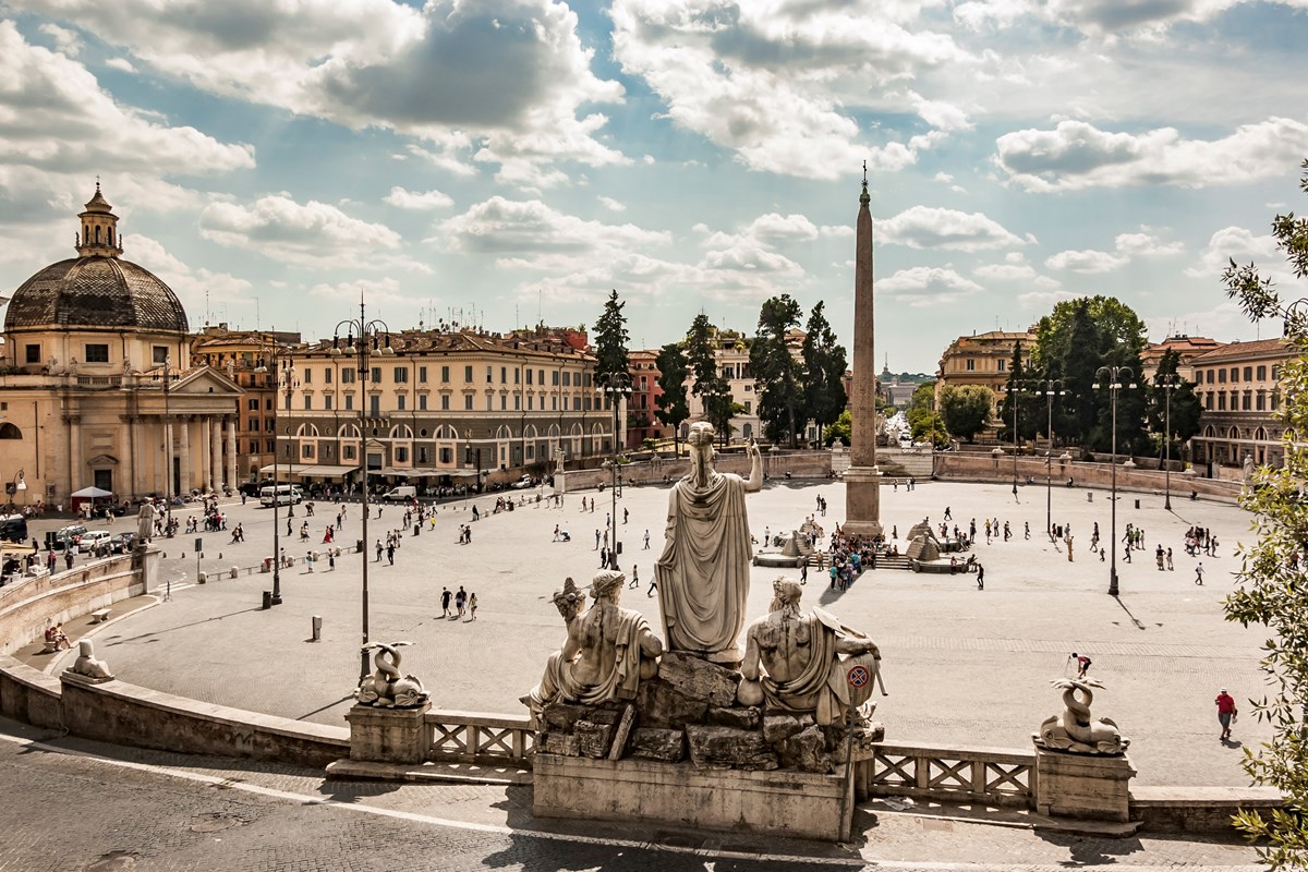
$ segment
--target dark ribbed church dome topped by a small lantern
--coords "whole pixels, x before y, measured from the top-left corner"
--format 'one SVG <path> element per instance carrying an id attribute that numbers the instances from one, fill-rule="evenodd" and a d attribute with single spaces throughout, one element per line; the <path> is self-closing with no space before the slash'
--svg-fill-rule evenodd
<path id="1" fill-rule="evenodd" d="M 76 247 L 81 256 L 50 264 L 22 282 L 5 311 L 5 329 L 59 326 L 187 332 L 186 310 L 177 294 L 148 269 L 119 258 L 118 217 L 99 183 L 78 217 Z"/>

